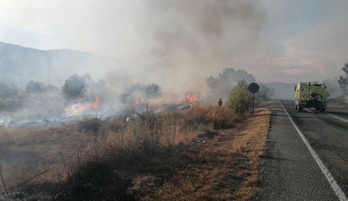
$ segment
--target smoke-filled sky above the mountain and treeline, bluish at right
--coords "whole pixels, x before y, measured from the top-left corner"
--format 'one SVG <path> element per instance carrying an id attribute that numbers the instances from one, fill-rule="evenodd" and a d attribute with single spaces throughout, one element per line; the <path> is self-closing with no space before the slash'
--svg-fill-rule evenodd
<path id="1" fill-rule="evenodd" d="M 321 81 L 348 62 L 347 10 L 347 0 L 0 0 L 0 41 L 137 61 L 169 84 L 226 67 Z"/>

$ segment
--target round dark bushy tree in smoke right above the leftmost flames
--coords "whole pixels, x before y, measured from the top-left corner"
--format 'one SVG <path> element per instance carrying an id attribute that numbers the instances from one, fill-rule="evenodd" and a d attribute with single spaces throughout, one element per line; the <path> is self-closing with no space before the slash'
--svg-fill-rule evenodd
<path id="1" fill-rule="evenodd" d="M 72 74 L 65 80 L 64 85 L 61 87 L 63 97 L 67 102 L 77 102 L 84 97 L 85 93 L 85 77 L 78 74 Z"/>

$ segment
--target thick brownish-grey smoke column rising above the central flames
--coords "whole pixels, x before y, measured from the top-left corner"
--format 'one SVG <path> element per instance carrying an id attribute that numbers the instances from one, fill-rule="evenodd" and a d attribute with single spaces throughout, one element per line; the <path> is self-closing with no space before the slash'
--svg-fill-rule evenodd
<path id="1" fill-rule="evenodd" d="M 266 10 L 253 0 L 146 1 L 144 6 L 148 72 L 156 72 L 152 75 L 164 90 L 178 93 L 205 90 L 207 76 L 254 53 L 267 23 Z"/>

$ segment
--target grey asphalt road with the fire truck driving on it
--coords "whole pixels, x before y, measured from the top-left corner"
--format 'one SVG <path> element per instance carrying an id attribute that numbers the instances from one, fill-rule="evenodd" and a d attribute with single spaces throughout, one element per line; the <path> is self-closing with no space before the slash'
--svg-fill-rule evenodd
<path id="1" fill-rule="evenodd" d="M 275 110 L 253 200 L 345 200 L 348 195 L 348 112 L 335 109 L 328 109 L 326 113 L 314 109 L 298 112 L 294 101 L 280 102 L 274 101 Z M 282 105 L 314 150 L 314 155 L 326 166 L 326 174 Z M 333 181 L 329 182 L 328 174 L 342 190 L 341 197 L 337 195 Z"/>

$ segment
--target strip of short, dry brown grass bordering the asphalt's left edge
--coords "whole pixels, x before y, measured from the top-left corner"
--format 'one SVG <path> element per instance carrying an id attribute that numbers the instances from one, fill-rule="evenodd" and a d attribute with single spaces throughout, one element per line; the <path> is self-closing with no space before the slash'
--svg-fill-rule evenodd
<path id="1" fill-rule="evenodd" d="M 140 200 L 250 200 L 266 144 L 270 110 L 236 128 L 201 135 L 177 147 L 163 173 L 137 177 L 131 193 Z M 163 182 L 165 180 L 165 182 Z"/>

